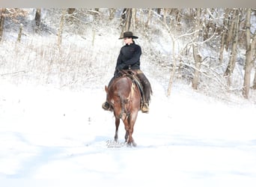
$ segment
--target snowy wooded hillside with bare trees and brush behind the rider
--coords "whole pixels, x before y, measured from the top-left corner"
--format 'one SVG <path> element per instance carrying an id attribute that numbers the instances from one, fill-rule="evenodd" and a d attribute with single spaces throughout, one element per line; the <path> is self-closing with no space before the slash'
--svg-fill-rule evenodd
<path id="1" fill-rule="evenodd" d="M 141 70 L 166 95 L 183 82 L 220 99 L 256 101 L 252 8 L 1 8 L 1 79 L 102 87 L 114 73 L 124 31 L 139 37 Z"/>

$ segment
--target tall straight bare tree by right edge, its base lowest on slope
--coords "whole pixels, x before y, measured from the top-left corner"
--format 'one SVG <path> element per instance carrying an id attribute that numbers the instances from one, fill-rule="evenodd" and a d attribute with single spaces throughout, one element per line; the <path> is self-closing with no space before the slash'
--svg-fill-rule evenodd
<path id="1" fill-rule="evenodd" d="M 251 8 L 247 8 L 246 11 L 246 69 L 243 82 L 243 96 L 249 98 L 249 89 L 251 83 L 251 71 L 253 67 L 252 52 L 255 50 L 256 43 L 256 31 L 253 37 L 251 37 Z"/>

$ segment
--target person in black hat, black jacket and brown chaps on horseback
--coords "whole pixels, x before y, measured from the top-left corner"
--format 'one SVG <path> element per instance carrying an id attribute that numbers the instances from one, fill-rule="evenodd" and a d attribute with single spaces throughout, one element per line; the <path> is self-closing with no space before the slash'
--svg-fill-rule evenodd
<path id="1" fill-rule="evenodd" d="M 118 76 L 120 70 L 133 70 L 137 74 L 138 79 L 141 82 L 144 91 L 144 101 L 141 111 L 147 113 L 149 111 L 149 102 L 151 94 L 151 86 L 147 77 L 140 70 L 140 57 L 141 57 L 141 47 L 135 44 L 133 39 L 138 39 L 138 37 L 133 36 L 131 31 L 124 32 L 123 37 L 119 39 L 124 39 L 125 46 L 121 48 L 120 54 L 118 55 L 118 61 L 115 67 L 114 77 L 109 82 L 111 85 L 113 79 Z M 109 102 L 104 102 L 102 105 L 103 109 L 109 110 Z"/>

